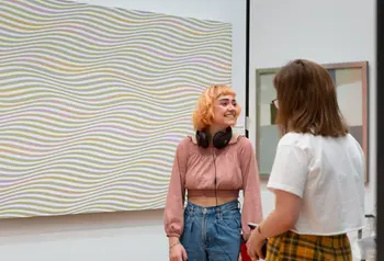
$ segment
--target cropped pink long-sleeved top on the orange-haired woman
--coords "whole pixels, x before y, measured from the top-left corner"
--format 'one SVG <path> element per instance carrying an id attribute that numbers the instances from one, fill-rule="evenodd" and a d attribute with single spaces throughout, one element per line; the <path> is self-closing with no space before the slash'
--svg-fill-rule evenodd
<path id="1" fill-rule="evenodd" d="M 215 163 L 215 164 L 214 164 Z M 168 237 L 183 232 L 185 190 L 189 195 L 239 195 L 244 190 L 241 209 L 242 234 L 248 235 L 248 223 L 262 220 L 259 171 L 252 145 L 245 136 L 234 135 L 227 147 L 204 149 L 188 136 L 178 146 L 165 209 L 165 230 Z"/>

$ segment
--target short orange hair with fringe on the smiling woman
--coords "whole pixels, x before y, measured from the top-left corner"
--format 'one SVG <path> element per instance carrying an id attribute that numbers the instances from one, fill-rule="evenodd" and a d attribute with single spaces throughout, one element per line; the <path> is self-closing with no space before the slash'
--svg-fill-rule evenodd
<path id="1" fill-rule="evenodd" d="M 204 130 L 214 123 L 213 106 L 215 101 L 223 95 L 236 97 L 236 93 L 228 86 L 211 86 L 197 100 L 196 107 L 192 115 L 193 128 L 195 130 Z M 236 120 L 240 115 L 241 107 L 236 104 Z"/>

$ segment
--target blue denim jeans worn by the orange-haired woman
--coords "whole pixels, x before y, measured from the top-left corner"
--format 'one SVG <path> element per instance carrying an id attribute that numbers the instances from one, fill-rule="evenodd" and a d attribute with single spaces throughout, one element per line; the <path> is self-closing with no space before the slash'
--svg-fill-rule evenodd
<path id="1" fill-rule="evenodd" d="M 188 261 L 237 261 L 241 242 L 239 202 L 212 207 L 189 202 L 180 240 Z"/>

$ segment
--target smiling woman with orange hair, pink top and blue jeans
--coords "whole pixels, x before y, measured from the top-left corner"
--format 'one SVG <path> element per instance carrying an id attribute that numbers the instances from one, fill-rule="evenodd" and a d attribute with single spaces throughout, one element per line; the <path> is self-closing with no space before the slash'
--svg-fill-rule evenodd
<path id="1" fill-rule="evenodd" d="M 167 195 L 170 261 L 237 261 L 241 236 L 250 234 L 247 224 L 262 219 L 251 143 L 231 132 L 239 114 L 235 92 L 226 86 L 207 88 L 197 102 L 196 133 L 178 145 Z"/>

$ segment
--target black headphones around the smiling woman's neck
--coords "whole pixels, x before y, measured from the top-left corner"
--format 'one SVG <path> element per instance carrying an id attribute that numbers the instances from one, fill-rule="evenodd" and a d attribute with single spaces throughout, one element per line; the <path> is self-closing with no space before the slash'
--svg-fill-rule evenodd
<path id="1" fill-rule="evenodd" d="M 225 148 L 231 138 L 231 127 L 217 132 L 212 139 L 212 144 L 216 149 Z M 196 132 L 196 141 L 200 147 L 206 149 L 210 146 L 210 134 L 205 130 Z"/>

